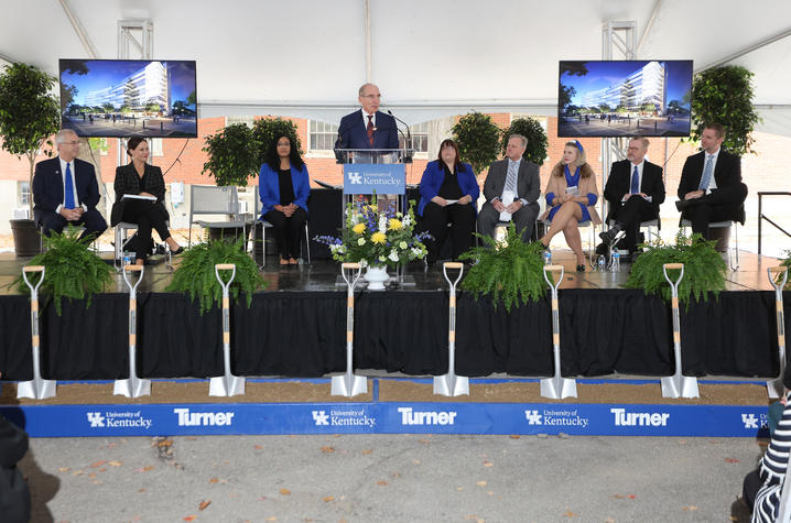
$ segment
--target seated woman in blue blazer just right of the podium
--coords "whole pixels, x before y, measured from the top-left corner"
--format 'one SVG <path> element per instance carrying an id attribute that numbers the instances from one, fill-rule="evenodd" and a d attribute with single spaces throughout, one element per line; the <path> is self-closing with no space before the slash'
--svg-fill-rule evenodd
<path id="1" fill-rule="evenodd" d="M 478 214 L 480 194 L 473 166 L 458 159 L 458 146 L 453 140 L 440 144 L 440 153 L 430 162 L 420 181 L 418 215 L 423 218 L 423 229 L 434 238 L 429 240 L 427 263 L 436 262 L 440 248 L 451 224 L 453 259 L 469 250 Z"/>

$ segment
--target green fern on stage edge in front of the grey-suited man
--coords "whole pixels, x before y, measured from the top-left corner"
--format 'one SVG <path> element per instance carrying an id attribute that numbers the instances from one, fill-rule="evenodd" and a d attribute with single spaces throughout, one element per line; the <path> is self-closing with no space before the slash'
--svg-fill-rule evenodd
<path id="1" fill-rule="evenodd" d="M 538 302 L 544 296 L 548 287 L 541 243 L 524 243 L 513 222 L 508 225 L 506 238 L 500 242 L 488 236 L 477 236 L 485 246 L 459 257 L 477 260 L 462 282 L 463 290 L 472 292 L 476 299 L 481 294 L 489 294 L 495 307 L 501 301 L 509 313 L 514 304 L 527 304 L 528 299 Z"/>

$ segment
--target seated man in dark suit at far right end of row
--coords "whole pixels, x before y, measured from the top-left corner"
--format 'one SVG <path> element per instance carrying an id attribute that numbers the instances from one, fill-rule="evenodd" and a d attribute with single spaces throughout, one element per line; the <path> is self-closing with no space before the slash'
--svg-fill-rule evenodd
<path id="1" fill-rule="evenodd" d="M 725 129 L 708 123 L 701 135 L 702 152 L 684 162 L 675 207 L 682 219 L 692 222 L 692 232 L 709 239 L 708 224 L 736 220 L 745 222 L 747 186 L 741 183 L 741 160 L 723 151 Z"/>

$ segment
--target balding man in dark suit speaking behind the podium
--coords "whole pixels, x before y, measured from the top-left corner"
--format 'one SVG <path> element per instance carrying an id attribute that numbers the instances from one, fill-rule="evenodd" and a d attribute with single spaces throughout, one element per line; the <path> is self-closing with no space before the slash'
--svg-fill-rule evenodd
<path id="1" fill-rule="evenodd" d="M 340 120 L 336 149 L 398 149 L 396 119 L 379 110 L 379 87 L 364 84 L 358 100 L 362 108 Z"/>

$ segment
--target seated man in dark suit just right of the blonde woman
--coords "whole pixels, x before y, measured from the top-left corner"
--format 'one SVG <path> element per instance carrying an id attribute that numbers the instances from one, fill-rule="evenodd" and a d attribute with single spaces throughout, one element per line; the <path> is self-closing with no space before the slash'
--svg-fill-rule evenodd
<path id="1" fill-rule="evenodd" d="M 629 140 L 627 160 L 613 163 L 604 197 L 609 204 L 607 222 L 614 220 L 615 224 L 599 235 L 604 240 L 596 249 L 599 253 L 624 231 L 625 247 L 633 258 L 640 222 L 659 218 L 659 206 L 664 201 L 662 167 L 646 160 L 648 145 L 646 138 L 633 138 Z"/>

